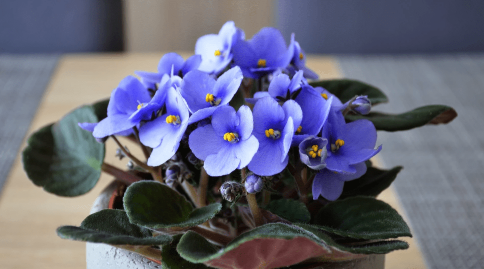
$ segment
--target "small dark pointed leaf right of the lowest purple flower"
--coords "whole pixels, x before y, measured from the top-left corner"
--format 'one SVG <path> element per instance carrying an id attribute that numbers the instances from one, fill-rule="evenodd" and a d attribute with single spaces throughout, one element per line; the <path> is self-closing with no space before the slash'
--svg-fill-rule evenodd
<path id="1" fill-rule="evenodd" d="M 338 199 L 359 195 L 375 197 L 390 186 L 402 168 L 402 166 L 395 166 L 390 170 L 382 170 L 368 167 L 366 173 L 360 178 L 344 182 L 343 193 Z"/>

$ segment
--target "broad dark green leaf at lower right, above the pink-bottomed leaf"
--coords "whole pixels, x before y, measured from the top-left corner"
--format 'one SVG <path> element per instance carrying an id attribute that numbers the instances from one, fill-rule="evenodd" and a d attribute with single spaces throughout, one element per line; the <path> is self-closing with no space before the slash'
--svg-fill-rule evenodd
<path id="1" fill-rule="evenodd" d="M 330 202 L 316 214 L 314 224 L 322 230 L 359 239 L 412 236 L 398 212 L 373 197 L 350 197 Z"/>

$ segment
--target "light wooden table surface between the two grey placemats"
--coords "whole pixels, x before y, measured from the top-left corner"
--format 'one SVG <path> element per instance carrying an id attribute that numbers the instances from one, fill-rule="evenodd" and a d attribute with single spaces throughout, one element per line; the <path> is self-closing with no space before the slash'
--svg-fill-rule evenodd
<path id="1" fill-rule="evenodd" d="M 28 134 L 56 121 L 84 103 L 109 97 L 113 88 L 135 70 L 156 71 L 164 53 L 67 54 L 61 58 L 44 94 Z M 185 58 L 189 53 L 182 54 Z M 341 77 L 337 62 L 327 56 L 310 56 L 307 65 L 320 78 Z M 371 81 L 368 81 L 371 82 Z M 125 160 L 114 154 L 116 145 L 107 143 L 106 162 L 120 167 Z M 21 150 L 25 147 L 25 141 Z M 376 159 L 376 161 L 378 161 Z M 60 225 L 79 225 L 89 214 L 98 193 L 112 180 L 103 174 L 96 187 L 85 195 L 58 197 L 35 186 L 17 157 L 0 197 L 0 267 L 14 268 L 86 268 L 86 245 L 61 239 L 56 234 Z M 390 187 L 379 196 L 391 204 L 405 219 L 395 192 Z M 411 227 L 410 227 L 411 228 Z M 386 255 L 386 268 L 426 268 L 413 238 L 403 238 L 407 250 Z"/>

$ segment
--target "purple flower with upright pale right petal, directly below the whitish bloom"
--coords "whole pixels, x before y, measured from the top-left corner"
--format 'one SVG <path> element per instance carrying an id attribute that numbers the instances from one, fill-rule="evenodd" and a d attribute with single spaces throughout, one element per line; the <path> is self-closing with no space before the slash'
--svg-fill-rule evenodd
<path id="1" fill-rule="evenodd" d="M 188 72 L 183 78 L 180 92 L 188 104 L 193 123 L 212 115 L 218 106 L 228 104 L 242 82 L 242 71 L 235 66 L 217 80 L 200 70 Z"/>

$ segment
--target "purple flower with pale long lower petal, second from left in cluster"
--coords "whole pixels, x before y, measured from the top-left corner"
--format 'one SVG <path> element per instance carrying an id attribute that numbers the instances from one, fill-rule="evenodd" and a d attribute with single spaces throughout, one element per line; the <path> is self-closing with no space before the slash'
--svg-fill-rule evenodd
<path id="1" fill-rule="evenodd" d="M 150 166 L 158 166 L 175 154 L 188 126 L 187 104 L 174 87 L 167 91 L 165 106 L 165 114 L 140 128 L 141 142 L 153 148 L 147 162 Z"/>

